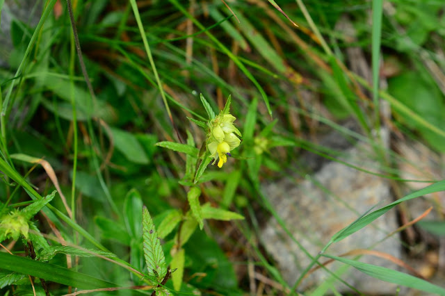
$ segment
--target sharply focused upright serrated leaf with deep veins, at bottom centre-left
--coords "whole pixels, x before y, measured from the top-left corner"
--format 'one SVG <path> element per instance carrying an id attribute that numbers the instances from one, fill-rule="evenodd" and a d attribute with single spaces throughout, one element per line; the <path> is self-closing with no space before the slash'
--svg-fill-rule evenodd
<path id="1" fill-rule="evenodd" d="M 165 265 L 165 256 L 161 247 L 158 233 L 154 228 L 152 217 L 148 210 L 143 206 L 142 212 L 143 227 L 143 249 L 145 263 L 147 263 L 147 273 L 149 281 L 153 286 L 157 286 L 167 274 L 167 266 Z"/>

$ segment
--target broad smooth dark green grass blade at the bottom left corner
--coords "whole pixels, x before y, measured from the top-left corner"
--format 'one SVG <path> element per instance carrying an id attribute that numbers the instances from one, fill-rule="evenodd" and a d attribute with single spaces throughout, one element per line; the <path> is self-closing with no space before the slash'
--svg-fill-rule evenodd
<path id="1" fill-rule="evenodd" d="M 114 283 L 91 277 L 88 274 L 69 270 L 58 265 L 43 263 L 31 258 L 10 255 L 0 252 L 0 266 L 3 270 L 29 274 L 31 277 L 54 281 L 65 286 L 81 289 L 98 289 L 115 287 Z"/>

